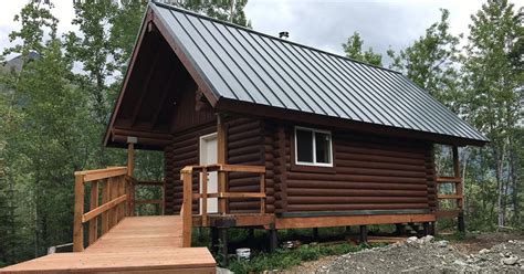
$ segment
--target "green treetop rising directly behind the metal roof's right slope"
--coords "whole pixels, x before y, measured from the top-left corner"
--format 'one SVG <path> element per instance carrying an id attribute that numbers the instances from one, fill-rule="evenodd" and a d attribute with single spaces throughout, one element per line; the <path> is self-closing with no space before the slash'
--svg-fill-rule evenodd
<path id="1" fill-rule="evenodd" d="M 426 34 L 398 54 L 388 50 L 390 65 L 422 87 L 434 98 L 459 109 L 460 88 L 457 62 L 460 49 L 460 36 L 449 32 L 449 11 L 441 9 L 440 21 L 426 30 Z"/>

